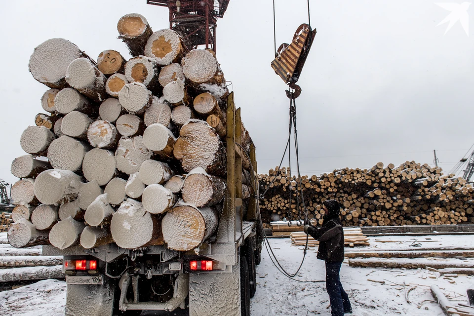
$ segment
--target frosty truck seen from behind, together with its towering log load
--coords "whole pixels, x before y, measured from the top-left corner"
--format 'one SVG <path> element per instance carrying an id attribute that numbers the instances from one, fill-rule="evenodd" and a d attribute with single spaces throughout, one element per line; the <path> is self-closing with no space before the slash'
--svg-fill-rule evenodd
<path id="1" fill-rule="evenodd" d="M 248 316 L 263 228 L 234 92 L 213 50 L 153 33 L 140 14 L 118 31 L 128 61 L 64 39 L 35 48 L 48 114 L 12 163 L 22 212 L 9 243 L 64 256 L 66 315 Z"/>

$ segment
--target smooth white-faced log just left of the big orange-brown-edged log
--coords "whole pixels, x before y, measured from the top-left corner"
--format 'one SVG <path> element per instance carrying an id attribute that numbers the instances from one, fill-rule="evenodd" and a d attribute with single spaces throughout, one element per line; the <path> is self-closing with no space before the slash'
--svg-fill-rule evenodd
<path id="1" fill-rule="evenodd" d="M 145 146 L 162 157 L 173 158 L 173 148 L 176 138 L 164 125 L 155 123 L 148 126 L 143 133 Z"/>

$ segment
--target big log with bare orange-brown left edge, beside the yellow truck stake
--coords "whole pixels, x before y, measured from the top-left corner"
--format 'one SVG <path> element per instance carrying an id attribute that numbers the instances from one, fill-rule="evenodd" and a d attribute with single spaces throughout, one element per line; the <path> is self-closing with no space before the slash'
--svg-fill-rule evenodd
<path id="1" fill-rule="evenodd" d="M 179 135 L 173 154 L 186 172 L 201 167 L 209 174 L 226 174 L 226 149 L 206 122 L 193 119 L 181 127 Z"/>

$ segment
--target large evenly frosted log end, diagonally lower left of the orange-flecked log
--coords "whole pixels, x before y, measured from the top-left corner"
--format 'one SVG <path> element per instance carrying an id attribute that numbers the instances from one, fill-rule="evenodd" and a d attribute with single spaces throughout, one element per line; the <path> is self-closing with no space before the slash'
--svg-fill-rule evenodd
<path id="1" fill-rule="evenodd" d="M 49 145 L 48 159 L 55 169 L 76 171 L 82 167 L 82 159 L 89 149 L 89 144 L 63 135 Z"/>

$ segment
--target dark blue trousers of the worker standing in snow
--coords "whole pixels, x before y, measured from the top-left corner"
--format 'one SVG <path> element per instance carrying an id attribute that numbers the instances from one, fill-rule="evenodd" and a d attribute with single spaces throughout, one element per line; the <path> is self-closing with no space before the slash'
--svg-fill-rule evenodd
<path id="1" fill-rule="evenodd" d="M 344 312 L 352 310 L 347 293 L 339 280 L 342 262 L 326 261 L 326 291 L 329 294 L 332 316 L 344 316 Z"/>

